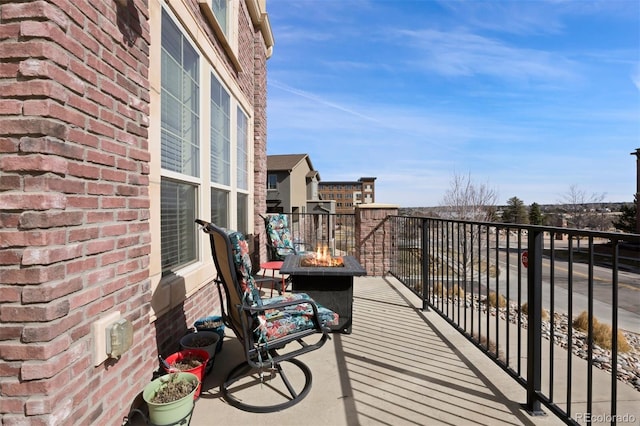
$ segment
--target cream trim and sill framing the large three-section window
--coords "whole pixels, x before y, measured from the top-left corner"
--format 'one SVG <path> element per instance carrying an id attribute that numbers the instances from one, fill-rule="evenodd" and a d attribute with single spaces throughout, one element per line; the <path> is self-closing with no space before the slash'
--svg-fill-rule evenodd
<path id="1" fill-rule="evenodd" d="M 230 4 L 237 2 L 231 1 Z M 155 6 L 154 6 L 155 5 Z M 225 65 L 226 59 L 221 58 L 214 44 L 210 41 L 203 29 L 195 20 L 193 13 L 188 10 L 183 2 L 165 2 L 159 0 L 151 3 L 151 19 L 153 21 L 152 37 L 160 40 L 162 35 L 162 11 L 166 11 L 173 22 L 178 26 L 183 36 L 188 40 L 198 54 L 199 68 L 199 165 L 200 173 L 198 177 L 184 175 L 182 173 L 166 170 L 161 167 L 161 134 L 160 126 L 151 126 L 149 130 L 149 140 L 151 141 L 151 163 L 150 163 L 150 199 L 151 211 L 149 224 L 152 239 L 159 241 L 161 237 L 161 182 L 163 179 L 171 179 L 184 183 L 194 184 L 196 188 L 196 214 L 198 217 L 207 219 L 211 214 L 211 188 L 224 190 L 230 193 L 228 207 L 229 227 L 235 227 L 237 223 L 237 194 L 248 195 L 247 226 L 253 230 L 254 217 L 251 206 L 253 205 L 254 174 L 252 173 L 255 160 L 253 132 L 254 115 L 251 100 L 242 92 L 239 82 L 236 81 L 233 71 Z M 234 6 L 237 8 L 237 4 Z M 232 25 L 237 26 L 236 16 L 231 18 Z M 237 38 L 237 28 L 230 28 L 232 37 Z M 237 42 L 237 40 L 236 40 Z M 151 48 L 150 64 L 150 84 L 151 84 L 151 108 L 152 119 L 161 119 L 161 57 L 162 47 L 155 44 Z M 236 60 L 237 57 L 233 56 Z M 210 78 L 211 75 L 225 87 L 231 98 L 231 185 L 213 184 L 210 176 Z M 235 117 L 237 108 L 240 107 L 248 119 L 248 190 L 239 190 L 236 185 L 236 126 Z M 157 148 L 157 149 L 156 149 Z M 235 189 L 234 189 L 235 188 Z M 157 316 L 164 314 L 169 309 L 175 307 L 185 298 L 198 291 L 203 285 L 209 283 L 215 277 L 215 268 L 211 258 L 209 240 L 206 235 L 197 233 L 197 255 L 196 259 L 181 268 L 175 268 L 174 274 L 162 276 L 162 256 L 160 244 L 152 244 L 150 253 L 150 280 L 152 292 L 154 294 L 152 309 L 149 320 L 154 321 Z M 174 285 L 175 284 L 175 285 Z M 174 288 L 180 286 L 180 288 Z"/>

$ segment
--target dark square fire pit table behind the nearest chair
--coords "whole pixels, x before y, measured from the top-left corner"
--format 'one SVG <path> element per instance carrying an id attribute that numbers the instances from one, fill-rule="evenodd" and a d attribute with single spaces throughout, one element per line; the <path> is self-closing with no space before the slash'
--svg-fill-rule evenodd
<path id="1" fill-rule="evenodd" d="M 340 315 L 332 331 L 351 333 L 353 311 L 353 277 L 366 275 L 365 269 L 353 256 L 341 256 L 332 266 L 308 265 L 308 256 L 289 255 L 280 273 L 289 274 L 291 290 L 307 293 L 312 299 Z"/>

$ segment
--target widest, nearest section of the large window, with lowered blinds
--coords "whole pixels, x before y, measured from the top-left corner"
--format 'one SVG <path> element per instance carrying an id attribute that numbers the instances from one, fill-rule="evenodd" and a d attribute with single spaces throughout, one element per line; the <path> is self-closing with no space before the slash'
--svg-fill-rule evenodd
<path id="1" fill-rule="evenodd" d="M 161 252 L 166 273 L 196 260 L 200 184 L 199 57 L 162 13 Z"/>

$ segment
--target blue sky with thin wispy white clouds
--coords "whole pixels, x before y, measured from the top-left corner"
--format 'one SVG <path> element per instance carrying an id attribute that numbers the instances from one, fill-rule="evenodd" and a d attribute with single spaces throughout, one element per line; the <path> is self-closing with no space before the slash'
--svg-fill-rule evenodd
<path id="1" fill-rule="evenodd" d="M 268 154 L 376 201 L 441 204 L 454 175 L 500 204 L 572 185 L 633 201 L 638 0 L 268 0 Z"/>

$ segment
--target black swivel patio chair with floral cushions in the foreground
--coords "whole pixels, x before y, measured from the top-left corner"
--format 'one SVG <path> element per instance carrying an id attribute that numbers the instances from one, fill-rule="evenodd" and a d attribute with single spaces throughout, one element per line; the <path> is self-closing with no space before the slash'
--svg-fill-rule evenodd
<path id="1" fill-rule="evenodd" d="M 329 338 L 327 326 L 338 323 L 338 315 L 316 304 L 307 294 L 296 293 L 262 299 L 251 275 L 251 260 L 247 242 L 240 232 L 224 230 L 211 223 L 196 220 L 209 235 L 211 253 L 217 269 L 216 283 L 222 305 L 222 318 L 244 348 L 245 360 L 231 369 L 220 386 L 224 399 L 234 407 L 245 411 L 267 413 L 283 410 L 300 402 L 311 389 L 311 370 L 297 359 L 298 356 L 319 349 Z M 225 298 L 223 299 L 223 292 Z M 225 307 L 226 305 L 226 307 Z M 319 334 L 319 338 L 305 338 Z M 300 346 L 291 349 L 289 344 Z M 294 366 L 288 370 L 295 378 L 304 381 L 292 383 L 283 364 Z M 239 393 L 264 382 L 269 372 L 271 381 L 264 389 L 275 390 L 272 395 L 261 397 L 265 404 L 242 401 Z M 284 389 L 273 385 L 279 376 Z M 297 380 L 300 382 L 301 380 Z M 265 383 L 266 384 L 266 383 Z M 278 398 L 275 402 L 274 399 Z"/>

